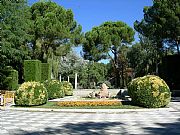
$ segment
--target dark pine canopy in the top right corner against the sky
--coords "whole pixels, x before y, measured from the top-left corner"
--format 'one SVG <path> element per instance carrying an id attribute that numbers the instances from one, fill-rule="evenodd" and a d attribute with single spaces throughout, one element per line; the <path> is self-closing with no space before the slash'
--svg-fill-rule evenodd
<path id="1" fill-rule="evenodd" d="M 154 0 L 143 12 L 144 19 L 135 21 L 134 28 L 154 41 L 158 48 L 173 46 L 180 54 L 180 1 Z"/>

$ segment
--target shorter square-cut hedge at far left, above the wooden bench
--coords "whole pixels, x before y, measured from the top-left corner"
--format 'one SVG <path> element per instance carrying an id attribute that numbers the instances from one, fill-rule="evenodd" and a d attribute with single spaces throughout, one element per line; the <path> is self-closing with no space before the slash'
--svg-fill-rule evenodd
<path id="1" fill-rule="evenodd" d="M 18 71 L 16 70 L 9 70 L 9 75 L 7 79 L 7 87 L 8 90 L 17 90 L 18 89 Z"/>

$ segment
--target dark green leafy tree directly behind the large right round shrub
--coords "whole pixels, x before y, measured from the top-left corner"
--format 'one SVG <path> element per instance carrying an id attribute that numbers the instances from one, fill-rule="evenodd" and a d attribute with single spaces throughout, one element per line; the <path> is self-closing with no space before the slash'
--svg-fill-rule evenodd
<path id="1" fill-rule="evenodd" d="M 168 55 L 173 51 L 169 50 Z M 134 69 L 135 76 L 158 74 L 163 52 L 148 38 L 140 35 L 140 42 L 135 43 L 127 53 L 128 63 Z"/>

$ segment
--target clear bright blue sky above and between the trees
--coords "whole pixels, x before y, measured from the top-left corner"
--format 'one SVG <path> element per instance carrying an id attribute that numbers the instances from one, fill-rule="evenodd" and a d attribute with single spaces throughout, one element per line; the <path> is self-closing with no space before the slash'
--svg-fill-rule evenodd
<path id="1" fill-rule="evenodd" d="M 39 0 L 28 0 L 33 4 Z M 144 6 L 151 6 L 152 0 L 52 0 L 66 9 L 72 9 L 75 20 L 83 32 L 105 21 L 123 21 L 133 27 L 136 20 L 143 18 Z M 135 41 L 138 41 L 137 34 Z M 77 52 L 81 48 L 75 49 Z"/>

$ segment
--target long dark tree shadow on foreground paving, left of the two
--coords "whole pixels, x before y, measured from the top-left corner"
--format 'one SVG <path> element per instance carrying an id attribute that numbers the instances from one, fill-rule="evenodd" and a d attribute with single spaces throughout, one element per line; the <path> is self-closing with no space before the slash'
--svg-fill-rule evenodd
<path id="1" fill-rule="evenodd" d="M 109 135 L 123 134 L 127 135 L 126 129 L 122 127 L 120 122 L 80 122 L 66 123 L 65 125 L 52 128 L 47 127 L 44 131 L 15 131 L 16 135 L 49 135 L 49 134 L 75 134 L 75 135 Z M 47 125 L 48 126 L 48 125 Z M 118 130 L 112 128 L 117 127 Z"/>

